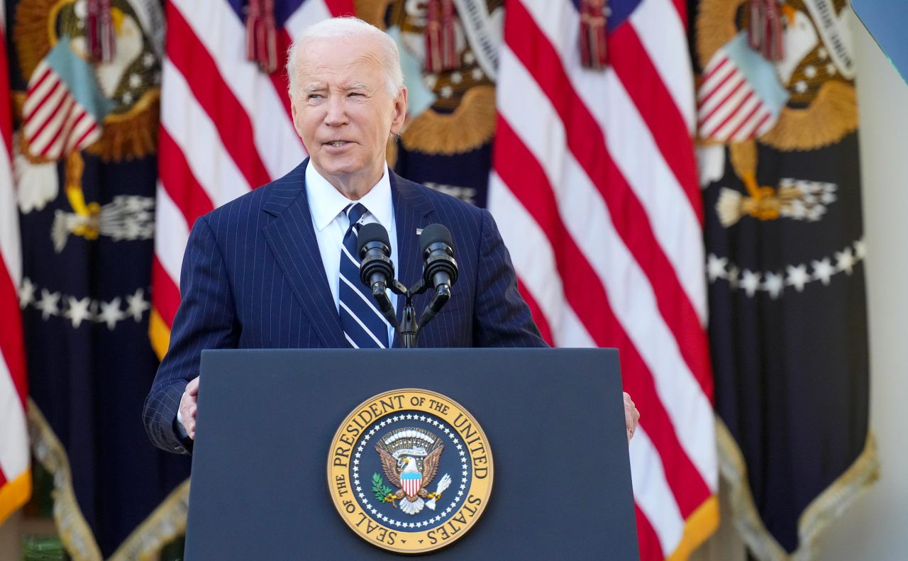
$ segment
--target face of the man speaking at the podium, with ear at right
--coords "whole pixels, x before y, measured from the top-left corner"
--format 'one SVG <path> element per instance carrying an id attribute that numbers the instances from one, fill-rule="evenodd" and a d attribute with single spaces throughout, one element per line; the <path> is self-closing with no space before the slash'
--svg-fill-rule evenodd
<path id="1" fill-rule="evenodd" d="M 301 44 L 293 125 L 315 169 L 357 198 L 379 181 L 389 134 L 400 132 L 407 92 L 388 93 L 378 41 L 368 36 Z"/>

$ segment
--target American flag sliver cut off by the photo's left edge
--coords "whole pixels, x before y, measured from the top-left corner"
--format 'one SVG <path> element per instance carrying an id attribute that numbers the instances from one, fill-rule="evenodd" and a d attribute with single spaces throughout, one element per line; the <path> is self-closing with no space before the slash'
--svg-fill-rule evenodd
<path id="1" fill-rule="evenodd" d="M 19 210 L 13 189 L 13 105 L 0 0 L 0 526 L 32 492 L 25 427 L 25 344 L 16 287 L 22 281 Z"/>

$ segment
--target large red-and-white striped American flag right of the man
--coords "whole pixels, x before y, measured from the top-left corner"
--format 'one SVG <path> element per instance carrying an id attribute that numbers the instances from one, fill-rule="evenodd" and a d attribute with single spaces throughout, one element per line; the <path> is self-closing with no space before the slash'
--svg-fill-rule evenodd
<path id="1" fill-rule="evenodd" d="M 620 350 L 641 558 L 686 558 L 718 524 L 686 2 L 607 5 L 597 71 L 576 2 L 506 3 L 489 210 L 544 336 Z"/>

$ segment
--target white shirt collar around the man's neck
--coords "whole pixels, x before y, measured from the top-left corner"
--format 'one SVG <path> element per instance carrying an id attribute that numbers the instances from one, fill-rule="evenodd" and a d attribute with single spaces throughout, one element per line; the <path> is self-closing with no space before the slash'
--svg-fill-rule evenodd
<path id="1" fill-rule="evenodd" d="M 391 227 L 393 208 L 388 164 L 385 164 L 379 182 L 365 196 L 359 201 L 350 201 L 322 177 L 310 162 L 306 166 L 306 198 L 312 213 L 312 223 L 315 224 L 318 231 L 327 228 L 350 202 L 361 202 L 382 226 L 386 229 Z"/>

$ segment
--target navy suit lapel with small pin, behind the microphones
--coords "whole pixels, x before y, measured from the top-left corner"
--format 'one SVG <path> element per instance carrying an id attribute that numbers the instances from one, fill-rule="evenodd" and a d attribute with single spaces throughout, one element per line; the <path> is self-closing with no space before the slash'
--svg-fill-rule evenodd
<path id="1" fill-rule="evenodd" d="M 419 256 L 419 236 L 416 231 L 429 225 L 429 214 L 434 210 L 429 198 L 416 185 L 390 173 L 391 201 L 394 220 L 397 222 L 398 261 L 396 272 L 400 282 L 410 288 L 422 276 L 422 259 Z M 421 300 L 421 299 L 420 299 Z M 398 298 L 398 321 L 403 319 L 404 298 Z M 422 313 L 416 305 L 417 318 Z M 394 337 L 395 348 L 400 348 L 400 337 Z"/>

